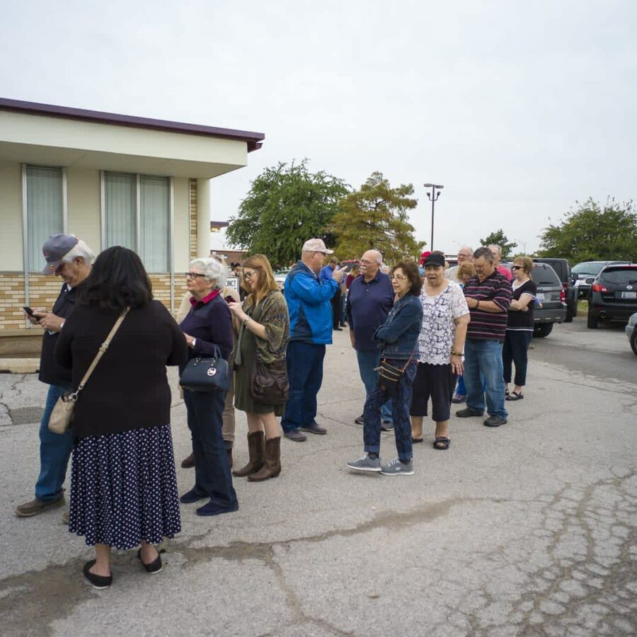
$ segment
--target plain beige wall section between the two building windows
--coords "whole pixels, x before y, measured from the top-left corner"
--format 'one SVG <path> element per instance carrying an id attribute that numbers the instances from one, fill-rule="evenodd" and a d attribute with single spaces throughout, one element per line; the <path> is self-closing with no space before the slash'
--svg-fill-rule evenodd
<path id="1" fill-rule="evenodd" d="M 100 171 L 67 168 L 67 232 L 101 250 Z M 1 268 L 0 268 L 1 269 Z"/>

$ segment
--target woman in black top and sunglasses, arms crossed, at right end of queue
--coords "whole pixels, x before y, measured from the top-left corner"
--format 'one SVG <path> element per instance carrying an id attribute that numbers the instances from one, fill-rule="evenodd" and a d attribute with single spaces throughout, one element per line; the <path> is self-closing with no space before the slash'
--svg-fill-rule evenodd
<path id="1" fill-rule="evenodd" d="M 527 351 L 533 336 L 533 308 L 537 288 L 531 280 L 533 261 L 529 257 L 513 260 L 513 300 L 509 307 L 507 333 L 502 348 L 504 381 L 507 401 L 524 398 L 522 387 L 527 382 Z M 515 362 L 515 389 L 509 393 L 512 362 Z"/>

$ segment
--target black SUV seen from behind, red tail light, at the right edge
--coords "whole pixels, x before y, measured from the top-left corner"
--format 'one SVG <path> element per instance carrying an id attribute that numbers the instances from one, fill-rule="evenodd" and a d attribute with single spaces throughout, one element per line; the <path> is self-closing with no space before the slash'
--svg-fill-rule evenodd
<path id="1" fill-rule="evenodd" d="M 637 264 L 607 265 L 588 293 L 588 327 L 599 320 L 628 321 L 637 312 Z"/>

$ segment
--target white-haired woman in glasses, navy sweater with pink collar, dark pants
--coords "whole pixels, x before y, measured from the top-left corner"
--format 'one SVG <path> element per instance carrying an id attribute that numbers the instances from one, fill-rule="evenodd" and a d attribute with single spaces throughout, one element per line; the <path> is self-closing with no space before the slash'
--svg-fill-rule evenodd
<path id="1" fill-rule="evenodd" d="M 217 258 L 200 257 L 190 261 L 186 285 L 192 295 L 191 307 L 179 325 L 188 343 L 190 358 L 214 356 L 217 351 L 224 359 L 229 358 L 232 323 L 228 304 L 220 294 L 225 281 L 226 268 Z M 197 515 L 219 515 L 239 509 L 222 435 L 225 398 L 226 392 L 218 389 L 183 389 L 188 428 L 193 437 L 195 486 L 184 493 L 180 501 L 190 504 L 210 498 L 197 509 Z"/>

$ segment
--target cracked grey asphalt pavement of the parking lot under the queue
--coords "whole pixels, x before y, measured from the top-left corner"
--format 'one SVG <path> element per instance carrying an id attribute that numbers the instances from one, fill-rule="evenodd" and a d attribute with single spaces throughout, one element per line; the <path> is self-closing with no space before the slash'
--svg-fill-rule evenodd
<path id="1" fill-rule="evenodd" d="M 32 496 L 38 425 L 24 420 L 45 392 L 33 375 L 1 375 L 2 633 L 635 634 L 637 374 L 607 374 L 622 356 L 612 330 L 595 333 L 585 369 L 564 352 L 553 362 L 551 349 L 580 338 L 567 329 L 536 341 L 507 425 L 453 418 L 447 452 L 432 449 L 430 427 L 409 478 L 346 469 L 362 452 L 353 420 L 364 394 L 349 336 L 335 333 L 317 418 L 328 435 L 284 440 L 275 480 L 236 479 L 235 514 L 199 518 L 183 506 L 161 574 L 117 551 L 102 592 L 83 581 L 92 551 L 60 510 L 13 515 Z M 172 424 L 180 459 L 190 447 L 177 398 Z M 239 465 L 245 435 L 239 415 Z M 381 454 L 394 453 L 383 434 Z M 192 470 L 178 469 L 178 481 L 190 488 Z"/>

